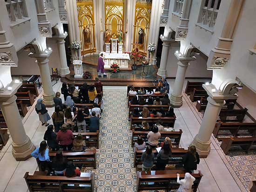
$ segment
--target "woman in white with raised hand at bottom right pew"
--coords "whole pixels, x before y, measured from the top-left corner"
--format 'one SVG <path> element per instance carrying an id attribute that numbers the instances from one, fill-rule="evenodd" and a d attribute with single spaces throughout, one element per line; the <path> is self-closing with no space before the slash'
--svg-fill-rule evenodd
<path id="1" fill-rule="evenodd" d="M 192 192 L 192 185 L 195 181 L 195 178 L 190 175 L 189 172 L 185 173 L 185 179 L 180 180 L 180 174 L 177 173 L 177 183 L 180 184 L 177 192 Z"/>

